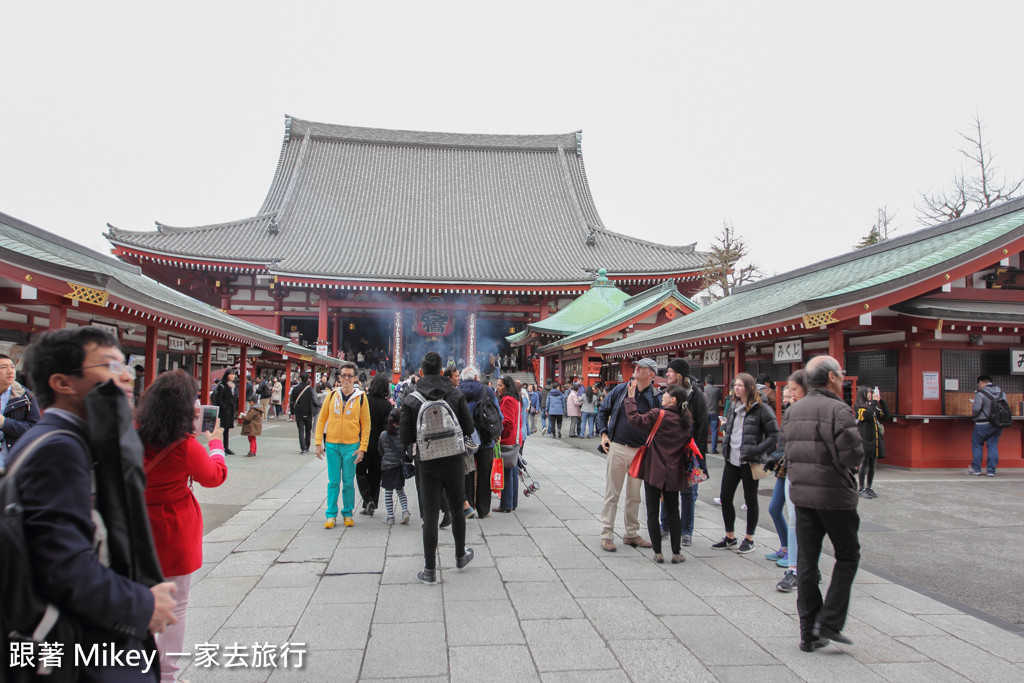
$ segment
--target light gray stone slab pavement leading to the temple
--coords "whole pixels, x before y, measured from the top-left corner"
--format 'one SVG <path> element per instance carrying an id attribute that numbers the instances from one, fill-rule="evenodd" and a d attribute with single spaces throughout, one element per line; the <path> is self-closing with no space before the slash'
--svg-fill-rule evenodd
<path id="1" fill-rule="evenodd" d="M 775 591 L 781 570 L 763 559 L 773 548 L 711 550 L 721 512 L 705 501 L 686 562 L 602 552 L 605 461 L 555 439 L 527 441 L 540 493 L 467 522 L 464 570 L 441 530 L 441 583 L 423 586 L 414 487 L 409 525 L 379 512 L 324 529 L 325 465 L 294 455 L 293 429 L 269 423 L 259 457 L 228 458 L 222 489 L 197 487 L 206 503 L 260 466 L 291 472 L 205 537 L 185 650 L 219 645 L 221 666 L 194 663 L 190 681 L 1024 680 L 1020 636 L 867 571 L 844 629 L 855 644 L 801 652 L 796 593 Z M 825 585 L 829 568 L 822 557 Z M 303 668 L 224 667 L 236 644 L 251 663 L 254 643 L 304 643 Z"/>

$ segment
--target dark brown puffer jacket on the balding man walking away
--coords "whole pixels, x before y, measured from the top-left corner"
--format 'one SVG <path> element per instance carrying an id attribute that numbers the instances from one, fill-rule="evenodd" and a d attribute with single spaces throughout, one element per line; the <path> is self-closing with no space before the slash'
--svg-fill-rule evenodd
<path id="1" fill-rule="evenodd" d="M 864 459 L 864 443 L 853 409 L 822 387 L 782 416 L 790 498 L 800 508 L 855 510 L 853 468 Z"/>

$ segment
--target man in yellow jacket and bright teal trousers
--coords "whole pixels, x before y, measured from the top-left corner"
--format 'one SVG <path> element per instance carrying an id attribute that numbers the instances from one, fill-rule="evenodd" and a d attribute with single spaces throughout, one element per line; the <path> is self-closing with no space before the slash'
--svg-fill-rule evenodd
<path id="1" fill-rule="evenodd" d="M 335 389 L 321 407 L 316 418 L 316 457 L 324 460 L 327 453 L 327 521 L 324 528 L 334 528 L 338 520 L 338 490 L 342 490 L 341 516 L 345 526 L 352 526 L 352 509 L 355 507 L 355 465 L 370 444 L 370 401 L 355 385 L 354 362 L 341 364 L 341 388 Z M 327 444 L 324 432 L 327 431 Z M 341 484 L 344 483 L 344 488 Z"/>

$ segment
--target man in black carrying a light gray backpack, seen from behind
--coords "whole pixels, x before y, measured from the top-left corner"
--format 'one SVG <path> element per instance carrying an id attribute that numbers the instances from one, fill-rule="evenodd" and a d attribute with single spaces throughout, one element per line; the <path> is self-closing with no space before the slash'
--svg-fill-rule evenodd
<path id="1" fill-rule="evenodd" d="M 447 378 L 441 377 L 441 356 L 429 351 L 420 364 L 423 378 L 416 391 L 401 403 L 398 434 L 407 447 L 416 445 L 416 469 L 423 499 L 424 569 L 416 578 L 433 586 L 437 583 L 437 515 L 441 492 L 454 512 L 466 498 L 465 438 L 473 433 L 473 416 L 466 397 Z M 461 443 L 461 446 L 459 445 Z M 452 515 L 455 561 L 460 569 L 473 559 L 466 547 L 466 517 Z"/>

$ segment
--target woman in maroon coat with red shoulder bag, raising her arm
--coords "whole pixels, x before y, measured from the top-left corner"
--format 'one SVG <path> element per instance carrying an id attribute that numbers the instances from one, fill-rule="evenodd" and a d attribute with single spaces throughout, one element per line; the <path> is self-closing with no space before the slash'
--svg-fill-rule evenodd
<path id="1" fill-rule="evenodd" d="M 654 550 L 654 561 L 664 562 L 662 555 L 660 501 L 669 517 L 669 538 L 672 540 L 672 563 L 684 561 L 680 548 L 682 522 L 679 519 L 679 492 L 689 487 L 687 475 L 691 469 L 690 438 L 692 418 L 684 408 L 688 392 L 684 387 L 672 386 L 662 393 L 662 409 L 637 413 L 636 380 L 630 380 L 626 390 L 626 418 L 639 429 L 650 431 L 659 414 L 662 423 L 654 433 L 640 465 L 644 497 L 647 499 L 647 530 Z M 664 494 L 664 496 L 663 496 Z"/>

